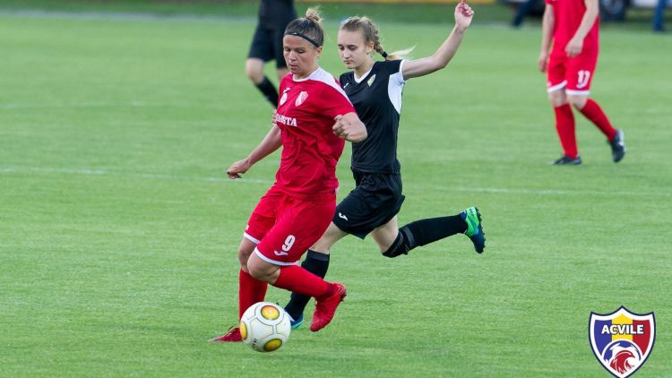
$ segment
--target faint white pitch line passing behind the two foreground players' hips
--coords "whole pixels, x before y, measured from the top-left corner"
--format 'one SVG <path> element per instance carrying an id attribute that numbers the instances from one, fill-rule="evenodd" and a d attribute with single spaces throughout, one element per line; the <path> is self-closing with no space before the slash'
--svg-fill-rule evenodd
<path id="1" fill-rule="evenodd" d="M 201 181 L 209 183 L 222 184 L 263 184 L 271 185 L 274 180 L 267 180 L 262 178 L 248 178 L 243 176 L 241 179 L 230 180 L 222 172 L 220 177 L 214 176 L 180 176 L 154 173 L 133 173 L 133 172 L 116 172 L 105 169 L 73 169 L 73 168 L 15 168 L 5 167 L 0 168 L 0 175 L 13 173 L 45 173 L 45 174 L 64 174 L 64 175 L 79 175 L 79 176 L 122 176 L 133 178 L 144 178 L 148 180 L 179 180 L 179 181 Z M 564 195 L 603 195 L 603 196 L 655 196 L 655 197 L 672 197 L 672 193 L 668 191 L 659 192 L 627 192 L 627 191 L 611 191 L 611 190 L 568 190 L 568 189 L 525 189 L 525 188 L 495 188 L 495 187 L 470 187 L 470 186 L 429 186 L 429 189 L 440 192 L 465 192 L 465 193 L 501 193 L 501 194 L 530 194 L 530 195 L 549 195 L 549 196 L 564 196 Z"/>

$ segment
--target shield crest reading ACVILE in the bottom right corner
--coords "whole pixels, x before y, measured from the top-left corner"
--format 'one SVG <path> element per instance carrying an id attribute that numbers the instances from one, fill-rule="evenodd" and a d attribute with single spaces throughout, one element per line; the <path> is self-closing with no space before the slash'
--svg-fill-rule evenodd
<path id="1" fill-rule="evenodd" d="M 653 313 L 633 314 L 624 306 L 611 314 L 590 313 L 589 339 L 595 357 L 618 378 L 634 374 L 656 341 Z"/>

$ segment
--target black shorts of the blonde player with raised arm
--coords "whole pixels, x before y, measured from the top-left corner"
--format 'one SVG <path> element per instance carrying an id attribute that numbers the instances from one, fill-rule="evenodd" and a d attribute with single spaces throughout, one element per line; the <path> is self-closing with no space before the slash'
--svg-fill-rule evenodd
<path id="1" fill-rule="evenodd" d="M 364 239 L 401 210 L 400 174 L 353 171 L 355 189 L 336 206 L 333 223 L 350 235 Z"/>

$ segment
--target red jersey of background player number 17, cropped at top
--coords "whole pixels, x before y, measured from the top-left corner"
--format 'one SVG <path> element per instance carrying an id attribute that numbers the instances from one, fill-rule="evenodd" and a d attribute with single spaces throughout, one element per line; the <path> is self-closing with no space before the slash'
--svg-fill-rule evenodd
<path id="1" fill-rule="evenodd" d="M 546 0 L 546 4 L 553 6 L 553 15 L 556 22 L 553 25 L 553 48 L 564 50 L 586 13 L 584 0 Z M 583 51 L 596 52 L 599 48 L 599 17 L 583 39 Z"/>

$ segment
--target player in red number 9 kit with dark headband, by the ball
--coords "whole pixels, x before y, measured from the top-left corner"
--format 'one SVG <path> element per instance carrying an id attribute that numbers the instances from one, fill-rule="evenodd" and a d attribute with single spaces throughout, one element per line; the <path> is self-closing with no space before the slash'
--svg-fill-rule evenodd
<path id="1" fill-rule="evenodd" d="M 339 83 L 317 63 L 324 41 L 320 21 L 319 13 L 308 9 L 306 18 L 289 23 L 283 51 L 291 74 L 280 82 L 271 131 L 248 158 L 227 170 L 229 178 L 240 178 L 282 146 L 275 184 L 254 208 L 238 248 L 238 321 L 250 305 L 263 301 L 268 284 L 316 299 L 311 331 L 331 322 L 346 296 L 343 285 L 297 265 L 333 217 L 343 140 L 366 139 L 366 127 Z M 334 125 L 334 119 L 340 121 Z M 240 329 L 211 339 L 220 341 L 242 341 Z"/>

